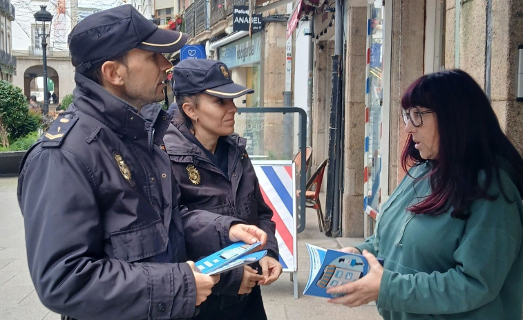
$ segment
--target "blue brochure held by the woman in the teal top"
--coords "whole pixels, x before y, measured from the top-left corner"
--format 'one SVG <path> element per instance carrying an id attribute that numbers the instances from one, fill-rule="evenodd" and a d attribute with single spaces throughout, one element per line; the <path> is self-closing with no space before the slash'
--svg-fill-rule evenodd
<path id="1" fill-rule="evenodd" d="M 369 271 L 369 263 L 361 254 L 349 254 L 323 249 L 307 243 L 310 256 L 309 281 L 303 294 L 316 297 L 341 297 L 343 294 L 327 294 L 327 289 L 356 281 Z M 378 261 L 383 265 L 383 259 Z"/>

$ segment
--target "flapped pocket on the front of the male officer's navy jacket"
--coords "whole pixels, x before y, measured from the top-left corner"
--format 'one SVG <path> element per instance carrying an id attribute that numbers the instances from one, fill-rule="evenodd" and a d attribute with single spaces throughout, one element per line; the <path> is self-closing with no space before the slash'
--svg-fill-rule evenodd
<path id="1" fill-rule="evenodd" d="M 160 220 L 135 229 L 111 234 L 115 258 L 139 261 L 167 250 L 169 236 Z"/>

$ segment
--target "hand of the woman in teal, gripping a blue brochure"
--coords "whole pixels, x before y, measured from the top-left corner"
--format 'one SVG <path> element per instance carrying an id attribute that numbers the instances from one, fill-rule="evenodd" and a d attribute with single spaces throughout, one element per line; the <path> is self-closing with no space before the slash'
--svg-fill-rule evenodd
<path id="1" fill-rule="evenodd" d="M 377 301 L 381 276 L 383 276 L 383 267 L 377 258 L 367 250 L 363 250 L 363 256 L 369 262 L 369 273 L 354 282 L 327 289 L 327 293 L 330 294 L 345 294 L 343 297 L 328 299 L 327 302 L 339 303 L 348 307 L 358 307 L 370 301 Z"/>

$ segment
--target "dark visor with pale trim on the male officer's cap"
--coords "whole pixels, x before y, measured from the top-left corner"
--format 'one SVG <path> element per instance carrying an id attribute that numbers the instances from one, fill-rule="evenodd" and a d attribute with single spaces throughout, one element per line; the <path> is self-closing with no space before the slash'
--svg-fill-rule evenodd
<path id="1" fill-rule="evenodd" d="M 180 50 L 186 42 L 186 34 L 158 28 L 149 38 L 139 44 L 137 48 L 155 53 L 174 53 Z"/>

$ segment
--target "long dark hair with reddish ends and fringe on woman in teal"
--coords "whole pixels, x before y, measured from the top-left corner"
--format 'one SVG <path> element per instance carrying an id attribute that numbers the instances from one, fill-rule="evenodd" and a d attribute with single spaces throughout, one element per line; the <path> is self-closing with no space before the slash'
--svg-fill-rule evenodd
<path id="1" fill-rule="evenodd" d="M 423 106 L 435 111 L 439 131 L 437 160 L 432 162 L 432 194 L 409 208 L 415 214 L 441 214 L 449 208 L 452 216 L 466 219 L 468 208 L 487 194 L 493 179 L 500 183 L 499 170 L 506 170 L 523 196 L 523 160 L 504 135 L 482 88 L 463 70 L 445 70 L 419 77 L 401 98 L 401 107 Z M 417 166 L 422 159 L 409 135 L 401 167 Z M 485 174 L 479 184 L 480 171 Z M 503 196 L 507 198 L 500 185 Z M 509 200 L 507 198 L 507 200 Z"/>

